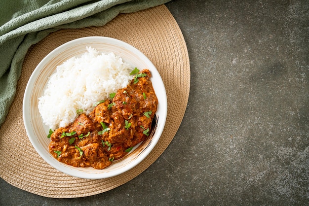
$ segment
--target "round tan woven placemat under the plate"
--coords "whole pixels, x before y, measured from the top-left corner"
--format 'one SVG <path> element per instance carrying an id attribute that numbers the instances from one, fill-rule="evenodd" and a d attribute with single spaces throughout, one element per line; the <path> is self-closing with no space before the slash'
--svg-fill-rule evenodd
<path id="1" fill-rule="evenodd" d="M 107 179 L 80 179 L 55 170 L 33 148 L 23 124 L 23 96 L 33 70 L 53 49 L 84 36 L 113 37 L 142 51 L 159 71 L 167 94 L 166 125 L 154 150 L 132 170 Z M 85 197 L 116 188 L 146 170 L 167 148 L 183 119 L 189 90 L 190 64 L 186 43 L 165 5 L 120 14 L 103 27 L 49 34 L 29 49 L 16 97 L 0 128 L 0 177 L 20 189 L 52 198 Z"/>

